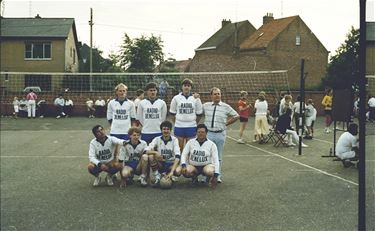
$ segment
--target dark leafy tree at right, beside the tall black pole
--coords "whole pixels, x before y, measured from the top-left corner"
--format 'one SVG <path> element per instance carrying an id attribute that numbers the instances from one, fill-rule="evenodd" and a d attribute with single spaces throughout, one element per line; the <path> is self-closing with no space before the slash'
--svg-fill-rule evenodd
<path id="1" fill-rule="evenodd" d="M 323 84 L 335 89 L 350 89 L 358 85 L 359 29 L 351 28 L 345 43 L 330 58 Z"/>

